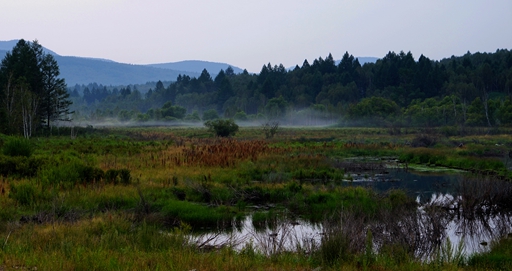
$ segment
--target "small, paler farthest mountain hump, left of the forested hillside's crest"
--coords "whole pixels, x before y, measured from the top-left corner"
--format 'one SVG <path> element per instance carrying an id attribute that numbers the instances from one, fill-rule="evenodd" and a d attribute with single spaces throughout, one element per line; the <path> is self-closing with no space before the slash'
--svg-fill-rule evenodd
<path id="1" fill-rule="evenodd" d="M 161 68 L 161 69 L 170 69 L 170 70 L 180 70 L 187 72 L 196 72 L 201 74 L 203 69 L 206 69 L 210 75 L 218 74 L 220 70 L 226 70 L 228 67 L 231 67 L 235 73 L 242 73 L 243 70 L 241 68 L 235 67 L 233 65 L 229 65 L 227 63 L 218 63 L 218 62 L 208 62 L 208 61 L 200 61 L 200 60 L 185 60 L 179 62 L 170 62 L 170 63 L 160 63 L 160 64 L 148 64 L 146 66 Z"/>

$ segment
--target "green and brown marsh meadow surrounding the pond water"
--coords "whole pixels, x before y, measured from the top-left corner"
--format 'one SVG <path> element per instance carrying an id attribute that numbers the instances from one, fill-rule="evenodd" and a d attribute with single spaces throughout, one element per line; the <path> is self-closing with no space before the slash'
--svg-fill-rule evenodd
<path id="1" fill-rule="evenodd" d="M 206 128 L 73 129 L 31 140 L 0 138 L 0 267 L 510 267 L 512 140 L 506 134 L 411 129 L 397 137 L 381 128 L 279 127 L 269 137 L 266 127 L 242 127 L 221 138 Z M 461 177 L 453 187 L 458 197 L 422 205 L 410 191 L 373 190 L 356 181 L 414 166 L 480 177 Z M 215 243 L 248 217 L 257 230 L 249 238 Z M 467 234 L 487 232 L 482 221 L 489 219 L 500 231 L 486 235 L 485 253 L 462 253 L 463 244 L 450 243 L 444 231 L 458 221 Z M 322 234 L 294 231 L 306 222 Z M 271 232 L 258 232 L 264 229 Z"/>

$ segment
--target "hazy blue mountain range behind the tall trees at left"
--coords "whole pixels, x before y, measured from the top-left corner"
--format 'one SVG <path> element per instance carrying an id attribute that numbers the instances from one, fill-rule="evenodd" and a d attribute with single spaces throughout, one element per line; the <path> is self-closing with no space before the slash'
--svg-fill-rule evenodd
<path id="1" fill-rule="evenodd" d="M 0 41 L 0 60 L 12 50 L 18 40 Z M 175 81 L 178 75 L 199 77 L 203 69 L 207 69 L 214 77 L 220 69 L 226 69 L 229 64 L 207 61 L 182 61 L 176 63 L 132 65 L 114 62 L 108 59 L 61 56 L 47 48 L 44 51 L 52 54 L 59 64 L 61 77 L 68 86 L 75 84 L 98 83 L 103 85 L 143 84 L 151 81 Z M 154 66 L 153 66 L 154 65 Z M 159 67 L 160 66 L 160 67 Z M 242 72 L 240 68 L 231 66 L 235 73 Z"/>

